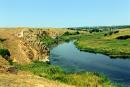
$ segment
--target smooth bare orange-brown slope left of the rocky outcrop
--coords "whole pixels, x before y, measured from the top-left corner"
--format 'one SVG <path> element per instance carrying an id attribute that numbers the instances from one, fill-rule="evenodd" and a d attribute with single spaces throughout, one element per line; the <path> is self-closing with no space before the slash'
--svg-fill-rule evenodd
<path id="1" fill-rule="evenodd" d="M 16 32 L 16 29 L 1 29 L 0 37 L 6 39 L 4 45 L 10 51 L 11 58 L 14 61 L 19 60 L 21 62 L 27 62 L 29 60 L 27 60 L 26 56 L 22 54 L 18 47 L 20 40 L 15 37 Z"/>

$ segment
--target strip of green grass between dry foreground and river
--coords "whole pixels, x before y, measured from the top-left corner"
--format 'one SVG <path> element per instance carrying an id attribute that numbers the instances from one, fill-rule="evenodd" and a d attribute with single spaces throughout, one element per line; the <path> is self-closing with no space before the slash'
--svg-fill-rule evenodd
<path id="1" fill-rule="evenodd" d="M 92 72 L 81 72 L 75 74 L 65 73 L 60 67 L 52 66 L 45 62 L 35 61 L 32 64 L 15 65 L 19 70 L 29 71 L 35 75 L 57 80 L 62 83 L 75 85 L 76 87 L 114 87 L 103 75 Z"/>

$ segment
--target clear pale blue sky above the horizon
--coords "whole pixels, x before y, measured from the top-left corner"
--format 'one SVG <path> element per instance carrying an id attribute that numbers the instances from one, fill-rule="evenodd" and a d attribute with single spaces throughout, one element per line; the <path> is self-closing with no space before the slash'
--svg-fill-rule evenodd
<path id="1" fill-rule="evenodd" d="M 0 0 L 0 27 L 130 24 L 130 0 Z"/>

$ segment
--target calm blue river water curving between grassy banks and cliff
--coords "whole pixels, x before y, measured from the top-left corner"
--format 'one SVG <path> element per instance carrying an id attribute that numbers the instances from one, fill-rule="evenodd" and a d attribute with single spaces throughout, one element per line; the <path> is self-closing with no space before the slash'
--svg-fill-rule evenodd
<path id="1" fill-rule="evenodd" d="M 130 85 L 130 59 L 111 59 L 102 54 L 82 52 L 73 41 L 54 47 L 50 52 L 50 62 L 66 72 L 99 72 L 113 82 Z"/>

